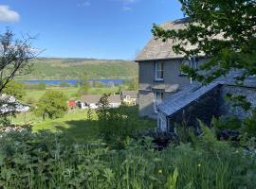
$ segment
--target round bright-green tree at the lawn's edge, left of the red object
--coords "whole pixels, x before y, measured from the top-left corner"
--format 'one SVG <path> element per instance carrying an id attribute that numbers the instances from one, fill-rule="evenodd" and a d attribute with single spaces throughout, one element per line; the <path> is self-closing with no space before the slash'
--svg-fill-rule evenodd
<path id="1" fill-rule="evenodd" d="M 60 118 L 67 111 L 67 97 L 62 92 L 48 91 L 36 104 L 35 114 L 50 119 Z"/>

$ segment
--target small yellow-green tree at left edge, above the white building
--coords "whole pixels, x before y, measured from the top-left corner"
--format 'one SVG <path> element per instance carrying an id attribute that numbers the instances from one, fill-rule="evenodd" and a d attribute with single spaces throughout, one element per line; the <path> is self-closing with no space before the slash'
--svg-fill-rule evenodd
<path id="1" fill-rule="evenodd" d="M 24 90 L 24 84 L 13 80 L 9 81 L 9 83 L 3 89 L 2 93 L 12 95 L 18 100 L 21 100 L 26 94 Z"/>

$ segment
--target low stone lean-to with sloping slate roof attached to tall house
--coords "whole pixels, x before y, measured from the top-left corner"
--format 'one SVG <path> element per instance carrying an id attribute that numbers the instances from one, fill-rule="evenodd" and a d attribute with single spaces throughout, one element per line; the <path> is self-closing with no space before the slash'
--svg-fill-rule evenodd
<path id="1" fill-rule="evenodd" d="M 256 108 L 256 77 L 247 77 L 243 84 L 236 83 L 241 72 L 232 72 L 228 77 L 221 77 L 208 85 L 193 82 L 179 92 L 171 95 L 157 107 L 157 129 L 174 131 L 174 124 L 186 123 L 187 126 L 198 126 L 197 119 L 210 125 L 212 116 L 235 115 L 240 119 L 251 112 L 241 107 L 233 107 L 226 100 L 227 94 L 241 94 L 247 97 L 252 108 Z"/>

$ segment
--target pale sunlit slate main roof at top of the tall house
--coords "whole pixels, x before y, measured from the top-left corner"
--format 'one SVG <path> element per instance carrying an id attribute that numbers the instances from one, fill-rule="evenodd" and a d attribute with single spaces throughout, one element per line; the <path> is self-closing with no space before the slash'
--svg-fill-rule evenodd
<path id="1" fill-rule="evenodd" d="M 161 25 L 164 29 L 182 29 L 186 27 L 188 18 L 178 19 L 174 22 L 166 22 Z M 138 54 L 136 61 L 142 60 L 167 60 L 167 59 L 180 59 L 183 58 L 183 54 L 176 54 L 173 50 L 173 45 L 177 44 L 177 41 L 167 40 L 165 43 L 161 39 L 153 37 L 149 43 Z M 187 46 L 191 49 L 192 46 Z"/>

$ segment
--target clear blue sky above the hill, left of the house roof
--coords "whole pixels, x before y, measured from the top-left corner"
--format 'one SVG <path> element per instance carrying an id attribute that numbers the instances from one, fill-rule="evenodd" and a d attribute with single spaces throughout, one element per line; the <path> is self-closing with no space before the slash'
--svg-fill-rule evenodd
<path id="1" fill-rule="evenodd" d="M 134 60 L 152 24 L 182 18 L 177 0 L 1 0 L 0 32 L 38 35 L 44 57 Z"/>

